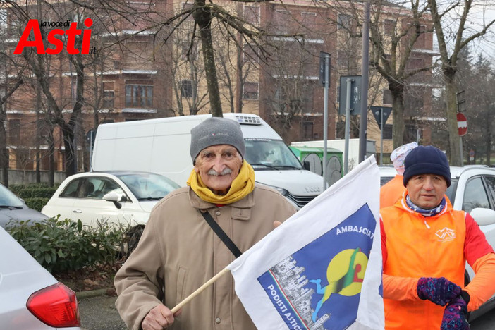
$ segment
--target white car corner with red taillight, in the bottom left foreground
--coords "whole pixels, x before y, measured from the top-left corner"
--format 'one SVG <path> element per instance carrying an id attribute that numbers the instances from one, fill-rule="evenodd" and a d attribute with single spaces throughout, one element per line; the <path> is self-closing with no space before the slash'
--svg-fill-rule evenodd
<path id="1" fill-rule="evenodd" d="M 0 227 L 0 328 L 78 330 L 79 326 L 74 291 Z"/>

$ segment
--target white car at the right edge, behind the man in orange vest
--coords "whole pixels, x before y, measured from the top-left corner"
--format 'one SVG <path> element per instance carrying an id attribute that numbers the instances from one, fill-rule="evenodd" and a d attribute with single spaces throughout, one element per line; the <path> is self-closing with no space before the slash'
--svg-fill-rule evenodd
<path id="1" fill-rule="evenodd" d="M 479 228 L 495 248 L 495 169 L 488 166 L 451 166 L 451 186 L 446 195 L 453 209 L 463 209 L 471 214 Z M 465 281 L 475 276 L 466 264 Z M 470 320 L 495 307 L 495 295 L 478 310 L 470 314 Z"/>

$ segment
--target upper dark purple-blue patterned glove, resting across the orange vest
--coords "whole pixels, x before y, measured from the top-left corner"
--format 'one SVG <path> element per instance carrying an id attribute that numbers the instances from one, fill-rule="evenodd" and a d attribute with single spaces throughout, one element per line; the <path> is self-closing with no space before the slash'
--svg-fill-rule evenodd
<path id="1" fill-rule="evenodd" d="M 422 277 L 417 281 L 417 296 L 436 305 L 445 306 L 458 297 L 460 291 L 460 286 L 444 277 Z"/>

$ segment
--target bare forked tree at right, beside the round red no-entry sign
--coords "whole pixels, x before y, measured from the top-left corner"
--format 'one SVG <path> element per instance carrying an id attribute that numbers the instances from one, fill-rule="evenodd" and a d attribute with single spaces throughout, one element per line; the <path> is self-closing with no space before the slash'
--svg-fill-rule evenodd
<path id="1" fill-rule="evenodd" d="M 479 1 L 484 4 L 486 1 Z M 460 166 L 460 139 L 457 128 L 457 97 L 458 87 L 456 73 L 460 51 L 473 40 L 483 37 L 489 31 L 495 20 L 482 21 L 478 29 L 468 28 L 469 23 L 475 23 L 473 11 L 477 2 L 463 0 L 439 4 L 436 0 L 427 0 L 427 6 L 432 15 L 436 39 L 439 43 L 441 73 L 446 89 L 446 117 L 449 132 L 450 164 Z M 460 14 L 457 14 L 457 12 Z M 452 23 L 447 24 L 451 16 Z M 448 26 L 446 28 L 446 26 Z M 457 26 L 457 29 L 453 26 Z"/>

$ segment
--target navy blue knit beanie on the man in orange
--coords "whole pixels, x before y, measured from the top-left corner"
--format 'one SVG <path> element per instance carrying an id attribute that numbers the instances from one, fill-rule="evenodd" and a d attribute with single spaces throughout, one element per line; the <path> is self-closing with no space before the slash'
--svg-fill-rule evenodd
<path id="1" fill-rule="evenodd" d="M 404 186 L 412 176 L 419 174 L 436 174 L 443 176 L 447 187 L 451 186 L 451 168 L 446 155 L 432 145 L 420 145 L 412 149 L 404 160 Z"/>

